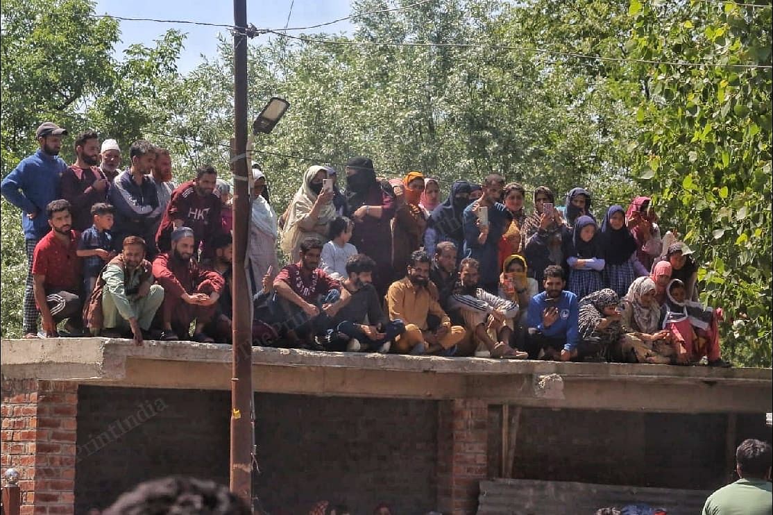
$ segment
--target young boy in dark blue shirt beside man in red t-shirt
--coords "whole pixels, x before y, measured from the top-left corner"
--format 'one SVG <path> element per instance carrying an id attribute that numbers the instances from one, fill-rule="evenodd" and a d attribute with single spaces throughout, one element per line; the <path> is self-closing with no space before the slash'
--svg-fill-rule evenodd
<path id="1" fill-rule="evenodd" d="M 80 242 L 76 254 L 83 257 L 83 295 L 88 298 L 97 284 L 102 268 L 117 254 L 111 252 L 113 214 L 115 208 L 110 204 L 96 203 L 91 207 L 91 217 L 94 225 L 80 234 Z"/>

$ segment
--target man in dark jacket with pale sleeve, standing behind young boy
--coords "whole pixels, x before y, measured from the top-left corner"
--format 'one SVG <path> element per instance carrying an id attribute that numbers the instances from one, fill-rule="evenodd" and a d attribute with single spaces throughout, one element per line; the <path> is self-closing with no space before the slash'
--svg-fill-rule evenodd
<path id="1" fill-rule="evenodd" d="M 148 245 L 148 257 L 156 254 L 153 229 L 162 210 L 158 206 L 153 179 L 148 176 L 155 163 L 153 148 L 143 139 L 132 143 L 129 149 L 131 167 L 118 174 L 110 189 L 110 203 L 115 206 L 113 245 L 116 251 L 122 250 L 124 237 L 139 236 Z"/>

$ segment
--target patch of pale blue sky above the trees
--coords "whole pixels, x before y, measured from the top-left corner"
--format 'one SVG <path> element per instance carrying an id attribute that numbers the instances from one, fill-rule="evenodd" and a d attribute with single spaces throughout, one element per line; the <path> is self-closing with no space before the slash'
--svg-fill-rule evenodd
<path id="1" fill-rule="evenodd" d="M 292 12 L 290 12 L 290 5 Z M 349 0 L 247 0 L 247 22 L 258 29 L 282 29 L 310 26 L 344 18 L 351 14 Z M 229 0 L 97 0 L 97 15 L 114 15 L 126 18 L 178 19 L 196 22 L 233 24 L 233 2 Z M 123 50 L 134 43 L 152 46 L 153 41 L 167 29 L 175 28 L 187 33 L 184 49 L 178 62 L 180 73 L 187 73 L 201 62 L 201 55 L 217 55 L 217 35 L 226 34 L 223 27 L 194 26 L 189 24 L 168 24 L 157 22 L 121 21 L 121 43 L 115 52 L 120 58 Z M 325 32 L 350 32 L 349 21 L 339 22 L 322 29 Z M 310 31 L 314 32 L 314 31 Z M 299 33 L 299 32 L 294 32 Z M 266 37 L 266 36 L 264 36 Z"/>

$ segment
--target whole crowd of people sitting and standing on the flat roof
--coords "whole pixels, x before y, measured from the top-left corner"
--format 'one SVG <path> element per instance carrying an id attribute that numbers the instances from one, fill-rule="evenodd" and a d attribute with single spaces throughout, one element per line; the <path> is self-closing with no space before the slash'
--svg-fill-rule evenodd
<path id="1" fill-rule="evenodd" d="M 230 341 L 233 212 L 212 166 L 180 185 L 150 142 L 121 148 L 46 122 L 38 151 L 2 180 L 22 210 L 25 338 L 90 334 Z M 649 197 L 564 210 L 497 174 L 448 197 L 418 171 L 376 176 L 349 159 L 346 186 L 313 165 L 281 215 L 254 165 L 246 273 L 257 345 L 506 359 L 729 366 L 721 309 L 697 302 L 693 252 L 661 234 Z M 280 256 L 289 263 L 281 266 Z M 38 330 L 38 318 L 42 330 Z M 59 325 L 64 322 L 63 328 Z"/>

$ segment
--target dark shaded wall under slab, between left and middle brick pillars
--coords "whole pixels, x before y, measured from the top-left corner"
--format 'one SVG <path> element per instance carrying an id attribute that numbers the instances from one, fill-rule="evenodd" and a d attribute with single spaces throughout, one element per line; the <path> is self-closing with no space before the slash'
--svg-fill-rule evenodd
<path id="1" fill-rule="evenodd" d="M 318 500 L 352 513 L 434 509 L 437 403 L 258 394 L 255 406 L 254 492 L 267 510 L 306 513 Z M 229 414 L 226 391 L 80 387 L 77 515 L 152 477 L 228 484 Z"/>

